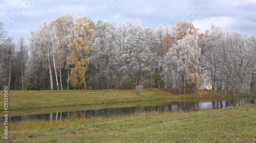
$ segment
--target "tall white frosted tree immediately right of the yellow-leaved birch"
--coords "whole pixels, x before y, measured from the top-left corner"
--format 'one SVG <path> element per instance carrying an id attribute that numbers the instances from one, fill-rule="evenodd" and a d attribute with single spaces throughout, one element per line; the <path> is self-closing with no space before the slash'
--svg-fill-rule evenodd
<path id="1" fill-rule="evenodd" d="M 113 22 L 99 20 L 96 25 L 96 38 L 93 44 L 92 64 L 98 82 L 106 89 L 117 88 L 120 48 L 117 42 L 116 26 Z"/>

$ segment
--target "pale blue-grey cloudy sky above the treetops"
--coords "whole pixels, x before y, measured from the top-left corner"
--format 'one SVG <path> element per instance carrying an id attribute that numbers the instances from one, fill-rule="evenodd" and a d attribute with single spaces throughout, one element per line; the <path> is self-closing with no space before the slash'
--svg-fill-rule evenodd
<path id="1" fill-rule="evenodd" d="M 43 21 L 70 13 L 98 19 L 136 21 L 147 27 L 174 25 L 178 21 L 193 22 L 204 32 L 211 23 L 226 31 L 256 33 L 256 0 L 1 0 L 0 21 L 15 41 L 29 38 Z"/>

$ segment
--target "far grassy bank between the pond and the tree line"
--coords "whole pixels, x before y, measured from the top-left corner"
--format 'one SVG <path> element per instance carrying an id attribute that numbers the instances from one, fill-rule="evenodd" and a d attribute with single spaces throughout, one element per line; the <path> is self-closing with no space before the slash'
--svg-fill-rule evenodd
<path id="1" fill-rule="evenodd" d="M 213 96 L 212 91 L 201 90 L 187 95 L 177 95 L 165 89 L 146 89 L 137 95 L 135 90 L 69 90 L 69 91 L 9 91 L 8 109 L 58 107 L 102 103 L 122 103 L 158 99 L 188 99 Z M 4 92 L 0 92 L 3 98 Z M 1 109 L 3 105 L 0 106 Z"/>

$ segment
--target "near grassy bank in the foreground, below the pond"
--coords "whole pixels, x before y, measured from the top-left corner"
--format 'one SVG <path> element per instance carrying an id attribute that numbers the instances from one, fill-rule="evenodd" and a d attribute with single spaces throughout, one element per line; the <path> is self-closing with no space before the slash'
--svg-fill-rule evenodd
<path id="1" fill-rule="evenodd" d="M 256 142 L 255 119 L 256 105 L 52 123 L 33 121 L 9 125 L 8 141 Z"/>

